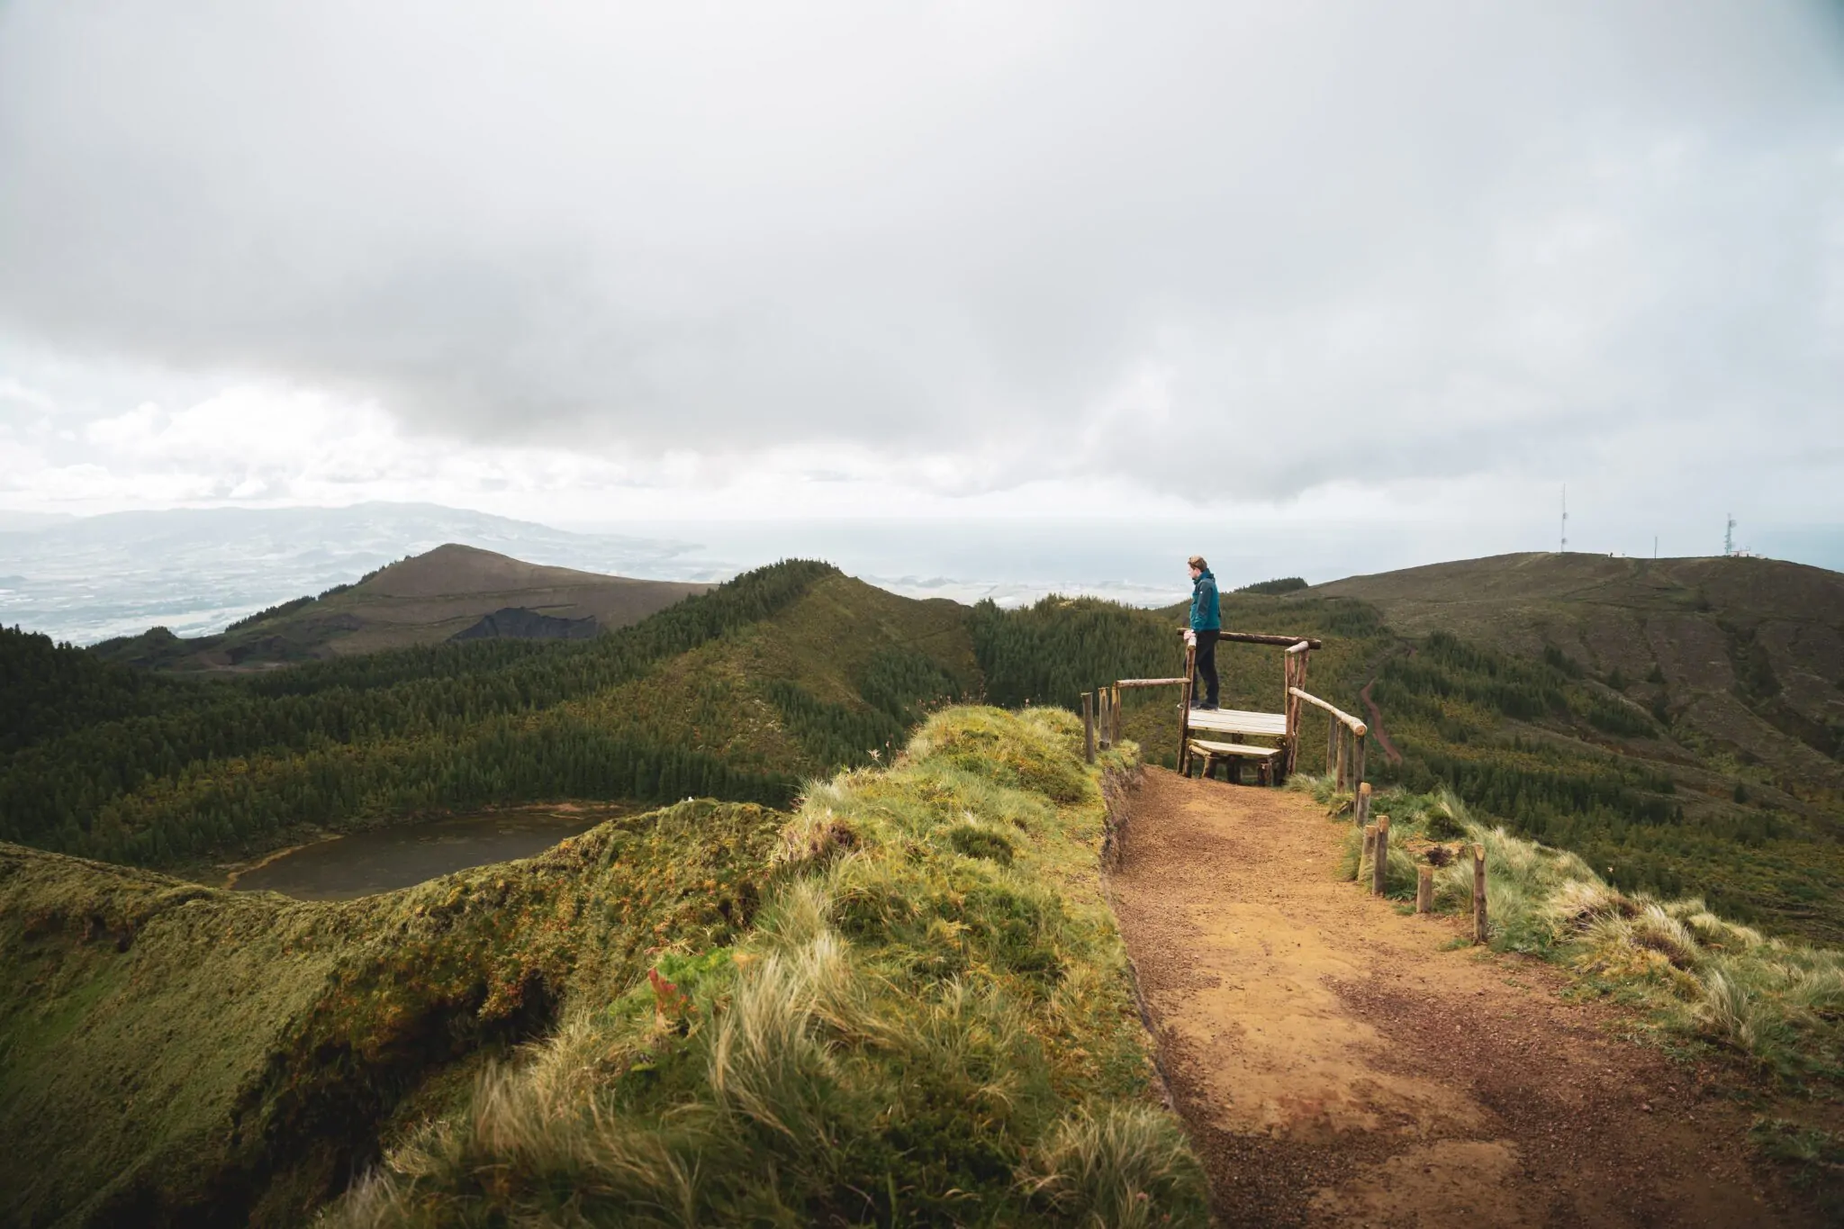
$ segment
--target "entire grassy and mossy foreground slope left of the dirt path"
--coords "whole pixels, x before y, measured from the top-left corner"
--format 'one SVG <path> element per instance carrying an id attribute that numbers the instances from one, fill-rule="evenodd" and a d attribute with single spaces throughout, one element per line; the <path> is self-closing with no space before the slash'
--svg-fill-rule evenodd
<path id="1" fill-rule="evenodd" d="M 334 905 L 0 846 L 20 1223 L 1204 1223 L 1068 713 Z"/>

